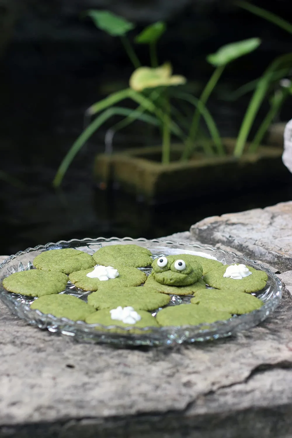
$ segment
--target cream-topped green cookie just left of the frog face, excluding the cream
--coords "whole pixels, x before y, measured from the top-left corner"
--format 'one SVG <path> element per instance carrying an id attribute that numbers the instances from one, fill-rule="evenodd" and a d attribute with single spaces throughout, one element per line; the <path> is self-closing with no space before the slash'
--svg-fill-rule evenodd
<path id="1" fill-rule="evenodd" d="M 140 286 L 147 278 L 145 272 L 137 268 L 119 268 L 118 271 L 118 277 L 102 281 L 98 278 L 87 277 L 86 274 L 92 272 L 92 269 L 85 269 L 83 271 L 72 272 L 69 275 L 69 280 L 80 289 L 95 291 L 108 290 L 113 286 Z"/>

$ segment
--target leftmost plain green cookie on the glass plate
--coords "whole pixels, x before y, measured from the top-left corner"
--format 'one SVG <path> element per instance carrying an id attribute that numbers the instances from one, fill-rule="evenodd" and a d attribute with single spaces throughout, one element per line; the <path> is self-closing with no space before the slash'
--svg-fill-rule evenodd
<path id="1" fill-rule="evenodd" d="M 42 297 L 62 292 L 67 286 L 68 277 L 61 272 L 43 272 L 37 269 L 21 271 L 4 278 L 3 286 L 9 292 Z"/>

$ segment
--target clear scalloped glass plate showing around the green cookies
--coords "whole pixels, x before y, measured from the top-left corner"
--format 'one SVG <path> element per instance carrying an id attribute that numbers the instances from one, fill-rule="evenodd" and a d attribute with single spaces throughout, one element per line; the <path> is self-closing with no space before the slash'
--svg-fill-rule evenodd
<path id="1" fill-rule="evenodd" d="M 143 328 L 138 329 L 139 333 L 137 334 L 128 332 L 131 327 L 120 327 L 120 329 L 123 330 L 123 333 L 117 334 L 109 331 L 109 329 L 116 327 L 115 325 L 105 327 L 99 324 L 86 324 L 83 321 L 74 322 L 67 318 L 56 318 L 53 315 L 46 315 L 38 310 L 32 310 L 29 305 L 34 298 L 23 297 L 18 294 L 7 292 L 3 287 L 2 280 L 5 277 L 14 272 L 32 269 L 33 259 L 42 251 L 49 249 L 76 248 L 85 251 L 88 254 L 93 254 L 100 247 L 113 244 L 136 244 L 141 247 L 146 247 L 152 252 L 154 257 L 183 253 L 194 254 L 207 258 L 215 258 L 225 265 L 231 263 L 243 263 L 252 266 L 255 269 L 263 270 L 267 272 L 268 281 L 266 287 L 257 293 L 257 297 L 264 302 L 264 305 L 259 310 L 240 316 L 234 316 L 226 321 L 217 321 L 212 324 L 206 323 L 197 326 L 180 327 L 154 327 L 151 328 L 151 332 L 148 331 L 148 328 Z M 147 274 L 151 272 L 151 269 L 141 269 Z M 90 292 L 84 292 L 81 289 L 77 289 L 74 284 L 68 282 L 66 290 L 62 293 L 68 293 L 86 301 Z M 119 346 L 155 346 L 173 345 L 183 342 L 193 343 L 195 341 L 206 341 L 208 339 L 218 339 L 225 336 L 231 336 L 241 330 L 250 329 L 261 321 L 264 321 L 264 319 L 267 318 L 267 316 L 278 306 L 281 296 L 282 285 L 280 279 L 264 266 L 232 252 L 226 252 L 211 247 L 202 247 L 197 244 L 187 244 L 184 242 L 175 243 L 169 240 L 146 240 L 144 238 L 131 239 L 130 237 L 124 237 L 123 239 L 117 237 L 112 237 L 110 239 L 99 237 L 98 239 L 61 240 L 56 244 L 48 243 L 46 245 L 38 245 L 35 248 L 28 248 L 25 251 L 19 251 L 17 254 L 11 255 L 0 264 L 0 298 L 14 314 L 40 329 L 47 329 L 49 332 L 71 336 L 77 341 L 88 343 L 110 343 Z M 179 297 L 173 295 L 171 296 L 169 305 L 173 306 L 182 303 L 189 303 L 190 298 L 191 297 Z M 157 311 L 159 311 L 159 309 L 152 312 L 152 315 L 155 316 Z M 96 326 L 102 327 L 103 330 L 96 330 Z"/>

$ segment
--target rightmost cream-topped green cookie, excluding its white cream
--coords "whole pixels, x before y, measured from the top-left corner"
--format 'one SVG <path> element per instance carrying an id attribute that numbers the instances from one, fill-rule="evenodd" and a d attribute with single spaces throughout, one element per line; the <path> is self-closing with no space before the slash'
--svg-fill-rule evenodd
<path id="1" fill-rule="evenodd" d="M 232 289 L 237 292 L 252 293 L 261 290 L 266 286 L 268 276 L 264 271 L 257 271 L 248 266 L 252 275 L 243 277 L 241 280 L 223 277 L 226 268 L 230 265 L 222 265 L 219 268 L 213 269 L 204 276 L 204 281 L 215 289 Z"/>

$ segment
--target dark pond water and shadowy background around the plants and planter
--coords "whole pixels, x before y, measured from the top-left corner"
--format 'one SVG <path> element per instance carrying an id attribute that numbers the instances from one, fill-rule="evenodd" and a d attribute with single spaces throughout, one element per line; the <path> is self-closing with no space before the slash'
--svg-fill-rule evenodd
<path id="1" fill-rule="evenodd" d="M 257 1 L 292 21 L 291 0 Z M 189 229 L 208 215 L 264 207 L 291 199 L 291 184 L 258 187 L 231 199 L 190 200 L 148 207 L 120 192 L 97 190 L 92 179 L 96 152 L 104 149 L 100 129 L 81 150 L 62 188 L 52 180 L 61 159 L 80 134 L 84 111 L 107 93 L 127 86 L 132 67 L 119 39 L 81 18 L 88 8 L 109 9 L 144 25 L 167 21 L 159 42 L 162 63 L 188 79 L 199 95 L 212 68 L 208 53 L 223 44 L 260 37 L 256 52 L 232 63 L 222 76 L 209 108 L 222 136 L 236 136 L 250 95 L 236 102 L 222 99 L 257 78 L 281 53 L 292 51 L 292 37 L 229 1 L 212 0 L 0 0 L 0 171 L 17 183 L 0 179 L 0 254 L 73 237 L 130 236 L 154 238 Z M 137 46 L 143 64 L 148 51 Z M 267 102 L 257 118 L 257 125 Z M 291 99 L 279 120 L 291 118 Z M 113 122 L 111 122 L 113 123 Z M 141 125 L 116 134 L 114 148 L 158 142 Z"/>

